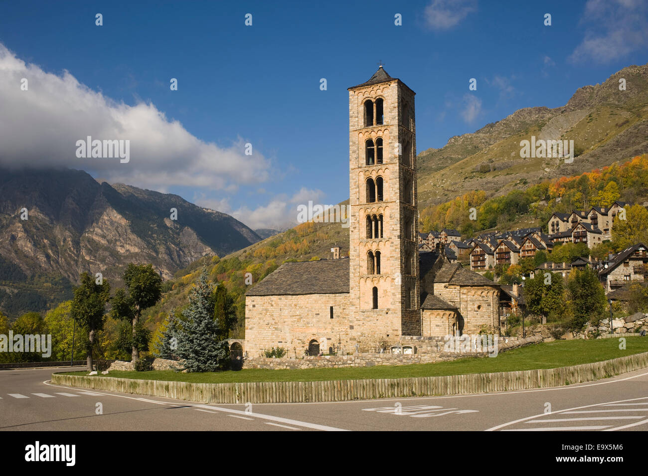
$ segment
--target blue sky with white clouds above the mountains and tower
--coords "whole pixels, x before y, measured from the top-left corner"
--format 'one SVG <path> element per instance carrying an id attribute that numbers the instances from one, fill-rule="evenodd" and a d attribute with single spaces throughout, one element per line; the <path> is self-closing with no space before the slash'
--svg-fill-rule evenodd
<path id="1" fill-rule="evenodd" d="M 0 1 L 0 166 L 287 227 L 349 197 L 347 88 L 380 62 L 417 93 L 420 153 L 647 63 L 648 0 Z M 87 136 L 128 162 L 77 157 Z"/>

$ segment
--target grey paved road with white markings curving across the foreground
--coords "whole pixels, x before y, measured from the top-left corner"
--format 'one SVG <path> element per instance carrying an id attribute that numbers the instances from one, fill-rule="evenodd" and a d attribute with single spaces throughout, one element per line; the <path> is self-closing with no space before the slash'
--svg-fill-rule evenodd
<path id="1" fill-rule="evenodd" d="M 62 371 L 65 369 L 57 369 Z M 206 405 L 49 383 L 0 371 L 2 430 L 646 431 L 648 369 L 592 383 L 465 396 Z"/>

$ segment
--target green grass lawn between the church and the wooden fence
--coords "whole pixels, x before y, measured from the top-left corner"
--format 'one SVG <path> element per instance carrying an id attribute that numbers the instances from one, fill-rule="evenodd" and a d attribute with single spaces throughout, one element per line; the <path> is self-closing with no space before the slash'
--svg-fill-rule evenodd
<path id="1" fill-rule="evenodd" d="M 228 370 L 227 372 L 195 374 L 183 374 L 181 372 L 174 372 L 174 370 L 150 370 L 148 372 L 114 371 L 110 372 L 108 377 L 196 383 L 430 377 L 567 367 L 569 365 L 579 365 L 648 352 L 647 337 L 627 337 L 626 340 L 626 350 L 619 350 L 619 339 L 595 339 L 588 341 L 577 339 L 573 341 L 554 341 L 527 345 L 525 347 L 507 350 L 498 354 L 497 357 L 466 357 L 456 361 L 439 363 L 382 365 L 376 367 L 307 368 L 303 370 L 248 368 L 238 371 Z M 62 373 L 66 375 L 87 375 L 87 371 Z M 102 378 L 103 376 L 98 374 L 96 377 Z"/>

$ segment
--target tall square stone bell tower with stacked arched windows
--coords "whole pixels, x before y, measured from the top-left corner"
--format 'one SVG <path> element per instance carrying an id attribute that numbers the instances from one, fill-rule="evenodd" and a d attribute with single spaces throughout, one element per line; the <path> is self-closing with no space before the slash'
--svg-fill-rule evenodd
<path id="1" fill-rule="evenodd" d="M 349 335 L 420 335 L 414 91 L 382 65 L 349 88 Z"/>

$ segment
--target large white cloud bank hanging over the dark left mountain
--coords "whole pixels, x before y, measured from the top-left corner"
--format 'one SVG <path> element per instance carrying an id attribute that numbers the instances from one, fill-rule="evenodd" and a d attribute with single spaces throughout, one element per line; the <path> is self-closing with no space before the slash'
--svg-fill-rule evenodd
<path id="1" fill-rule="evenodd" d="M 28 91 L 21 91 L 27 78 Z M 69 166 L 111 183 L 165 190 L 191 186 L 232 192 L 267 181 L 270 162 L 258 150 L 244 154 L 237 138 L 223 147 L 205 142 L 169 120 L 154 104 L 128 106 L 80 84 L 64 71 L 46 73 L 0 43 L 0 165 Z M 130 140 L 130 162 L 79 159 L 76 141 Z"/>

